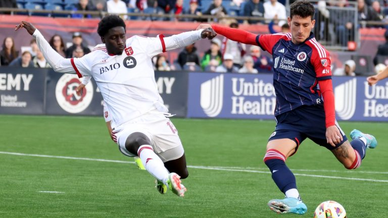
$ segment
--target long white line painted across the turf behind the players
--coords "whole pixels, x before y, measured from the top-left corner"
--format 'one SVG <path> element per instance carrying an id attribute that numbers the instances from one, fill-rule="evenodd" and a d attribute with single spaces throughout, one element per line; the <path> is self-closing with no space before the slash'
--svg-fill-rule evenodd
<path id="1" fill-rule="evenodd" d="M 61 158 L 61 159 L 76 159 L 76 160 L 91 160 L 91 161 L 103 161 L 103 162 L 134 163 L 134 161 L 94 159 L 94 158 L 86 158 L 86 157 L 54 156 L 54 155 L 43 155 L 43 154 L 26 154 L 26 153 L 16 153 L 16 152 L 6 152 L 6 151 L 0 151 L 0 154 L 11 154 L 11 155 L 20 155 L 20 156 L 36 156 L 36 157 L 50 157 L 50 158 Z M 250 169 L 254 169 L 254 168 L 207 167 L 207 166 L 187 166 L 187 167 L 188 168 L 195 168 L 195 169 L 203 169 L 203 170 L 220 170 L 220 171 L 263 173 L 263 174 L 269 174 L 270 173 L 268 171 L 250 170 Z M 301 170 L 301 171 L 312 171 L 313 172 L 314 170 Z M 331 171 L 328 171 L 328 172 L 331 172 Z M 341 171 L 336 171 L 336 172 L 341 172 Z M 372 173 L 372 172 L 369 172 L 369 173 Z M 387 174 L 388 172 L 375 172 L 375 173 Z M 374 180 L 374 179 L 361 179 L 361 178 L 349 178 L 349 177 L 334 177 L 334 176 L 310 175 L 310 174 L 294 174 L 294 175 L 295 176 L 305 176 L 305 177 L 318 177 L 318 178 L 330 178 L 330 179 L 343 179 L 343 180 L 357 180 L 357 181 L 388 183 L 388 180 Z"/>

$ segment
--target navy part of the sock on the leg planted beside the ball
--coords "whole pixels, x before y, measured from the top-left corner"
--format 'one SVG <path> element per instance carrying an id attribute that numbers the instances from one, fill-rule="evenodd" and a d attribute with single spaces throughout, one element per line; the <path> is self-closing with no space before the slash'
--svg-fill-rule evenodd
<path id="1" fill-rule="evenodd" d="M 293 172 L 291 172 L 281 159 L 268 159 L 264 161 L 272 174 L 272 179 L 281 192 L 297 188 L 297 181 Z"/>

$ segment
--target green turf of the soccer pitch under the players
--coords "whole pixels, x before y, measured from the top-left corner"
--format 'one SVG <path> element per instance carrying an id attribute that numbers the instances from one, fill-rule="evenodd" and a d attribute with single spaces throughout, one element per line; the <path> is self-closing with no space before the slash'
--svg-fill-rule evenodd
<path id="1" fill-rule="evenodd" d="M 348 217 L 386 217 L 386 123 L 340 123 L 347 133 L 367 130 L 378 140 L 358 170 L 345 170 L 309 140 L 287 160 L 308 206 L 300 216 L 266 205 L 283 198 L 262 161 L 274 121 L 172 121 L 189 165 L 184 198 L 159 194 L 151 175 L 133 163 L 0 153 L 0 217 L 312 217 L 325 200 L 342 203 Z M 2 115 L 0 128 L 1 152 L 133 161 L 118 151 L 100 117 Z"/>

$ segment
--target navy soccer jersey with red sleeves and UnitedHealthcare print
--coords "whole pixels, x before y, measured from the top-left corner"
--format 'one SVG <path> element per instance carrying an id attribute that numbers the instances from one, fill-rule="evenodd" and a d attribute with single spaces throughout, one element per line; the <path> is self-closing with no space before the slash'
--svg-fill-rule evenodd
<path id="1" fill-rule="evenodd" d="M 330 57 L 313 33 L 294 44 L 290 33 L 258 35 L 257 44 L 273 57 L 275 116 L 302 105 L 322 105 L 318 81 L 331 79 Z"/>

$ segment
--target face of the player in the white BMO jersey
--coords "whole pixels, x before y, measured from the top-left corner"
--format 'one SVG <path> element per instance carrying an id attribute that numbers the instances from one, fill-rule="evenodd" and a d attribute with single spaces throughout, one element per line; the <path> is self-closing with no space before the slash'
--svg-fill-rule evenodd
<path id="1" fill-rule="evenodd" d="M 102 41 L 105 43 L 108 53 L 113 55 L 121 55 L 125 48 L 125 29 L 124 27 L 111 28 Z"/>

